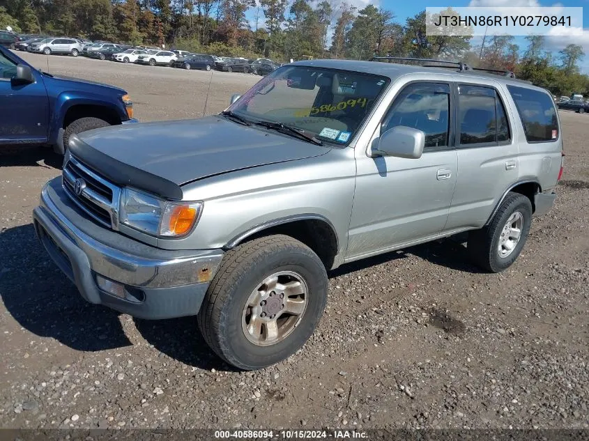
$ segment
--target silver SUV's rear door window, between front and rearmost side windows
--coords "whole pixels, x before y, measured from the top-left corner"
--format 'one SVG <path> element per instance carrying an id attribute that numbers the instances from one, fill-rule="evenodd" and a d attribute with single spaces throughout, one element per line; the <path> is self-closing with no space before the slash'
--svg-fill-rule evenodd
<path id="1" fill-rule="evenodd" d="M 458 91 L 461 146 L 510 140 L 505 108 L 494 88 L 461 84 Z"/>

